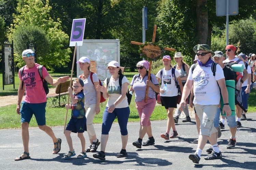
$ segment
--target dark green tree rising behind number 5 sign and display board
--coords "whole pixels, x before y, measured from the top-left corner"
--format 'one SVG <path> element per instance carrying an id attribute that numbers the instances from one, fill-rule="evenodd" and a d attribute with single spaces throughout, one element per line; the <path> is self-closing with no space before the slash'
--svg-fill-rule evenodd
<path id="1" fill-rule="evenodd" d="M 63 28 L 70 33 L 72 19 L 86 18 L 84 39 L 119 39 L 120 63 L 134 70 L 141 60 L 139 47 L 130 41 L 142 42 L 142 8 L 148 7 L 148 30 L 146 41 L 152 41 L 157 13 L 156 0 L 84 0 L 79 3 L 71 0 L 50 0 L 53 6 L 51 15 L 63 20 Z M 65 25 L 65 26 L 64 26 Z"/>

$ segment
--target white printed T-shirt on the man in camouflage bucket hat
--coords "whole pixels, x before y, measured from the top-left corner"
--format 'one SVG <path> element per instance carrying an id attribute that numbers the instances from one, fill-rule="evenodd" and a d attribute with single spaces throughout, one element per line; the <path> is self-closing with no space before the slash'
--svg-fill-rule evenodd
<path id="1" fill-rule="evenodd" d="M 192 67 L 189 69 L 188 80 L 194 81 L 195 98 L 193 103 L 200 105 L 219 104 L 221 95 L 217 80 L 225 79 L 221 66 L 216 65 L 215 77 L 212 67 L 201 67 L 197 64 L 193 75 L 191 69 Z"/>

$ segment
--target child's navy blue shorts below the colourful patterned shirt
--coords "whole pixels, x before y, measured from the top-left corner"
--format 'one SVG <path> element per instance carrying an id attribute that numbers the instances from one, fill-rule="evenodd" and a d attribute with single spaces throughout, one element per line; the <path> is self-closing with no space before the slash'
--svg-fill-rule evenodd
<path id="1" fill-rule="evenodd" d="M 84 131 L 87 131 L 86 117 L 84 116 L 80 119 L 71 117 L 67 124 L 66 131 L 71 131 L 73 133 L 84 133 Z"/>

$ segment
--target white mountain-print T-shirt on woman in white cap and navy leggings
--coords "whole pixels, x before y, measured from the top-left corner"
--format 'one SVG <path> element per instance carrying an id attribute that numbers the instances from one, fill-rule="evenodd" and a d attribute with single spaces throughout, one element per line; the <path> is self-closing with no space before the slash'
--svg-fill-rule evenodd
<path id="1" fill-rule="evenodd" d="M 107 78 L 104 80 L 104 83 L 105 85 L 107 84 Z M 127 85 L 129 85 L 129 81 L 125 76 L 122 79 L 122 87 L 124 83 L 128 83 Z M 126 89 L 126 91 L 127 90 L 128 89 Z M 119 86 L 119 79 L 114 81 L 111 76 L 109 80 L 109 85 L 108 85 L 108 94 L 109 94 L 109 100 L 106 107 L 111 106 L 113 103 L 115 103 L 115 101 L 119 98 L 119 96 L 121 96 L 121 87 Z M 128 106 L 129 104 L 127 101 L 127 97 L 125 96 L 125 98 L 119 104 L 117 104 L 115 108 L 126 108 Z"/>

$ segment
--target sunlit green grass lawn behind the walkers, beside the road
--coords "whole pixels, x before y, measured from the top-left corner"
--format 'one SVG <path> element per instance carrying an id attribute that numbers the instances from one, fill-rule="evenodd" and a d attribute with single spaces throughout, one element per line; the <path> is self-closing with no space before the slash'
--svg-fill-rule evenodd
<path id="1" fill-rule="evenodd" d="M 68 73 L 50 73 L 52 77 L 60 77 L 63 75 L 69 75 Z M 137 74 L 137 72 L 125 72 L 125 76 L 131 82 L 133 75 Z M 2 80 L 2 74 L 0 74 L 0 79 Z M 17 76 L 15 77 L 15 89 L 13 90 L 13 85 L 5 86 L 4 92 L 0 92 L 0 96 L 8 96 L 8 95 L 17 95 L 17 88 L 18 88 L 18 78 L 16 81 Z M 2 82 L 1 82 L 2 83 Z M 17 83 L 17 85 L 16 85 Z M 2 84 L 0 84 L 2 86 Z M 16 92 L 15 92 L 16 90 Z M 248 113 L 255 113 L 256 112 L 256 105 L 255 99 L 256 98 L 256 90 L 252 89 L 251 94 L 248 99 Z M 94 123 L 102 123 L 102 116 L 103 111 L 105 109 L 107 101 L 102 103 L 102 107 L 100 105 L 101 112 L 95 116 Z M 139 115 L 136 109 L 136 104 L 134 101 L 134 96 L 132 97 L 130 103 L 130 116 L 129 122 L 139 122 Z M 64 126 L 65 124 L 65 117 L 66 117 L 67 109 L 65 107 L 46 107 L 46 124 L 49 126 Z M 70 119 L 71 110 L 68 110 L 68 119 Z M 166 109 L 161 105 L 157 104 L 153 114 L 151 115 L 151 120 L 166 120 L 167 113 Z M 114 122 L 117 122 L 115 119 Z M 35 121 L 34 116 L 30 122 L 31 127 L 37 126 L 37 122 Z M 4 106 L 0 107 L 0 129 L 10 129 L 10 128 L 20 128 L 20 115 L 16 113 L 16 105 Z"/>

